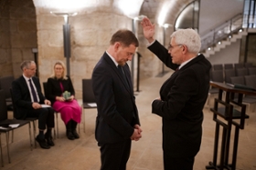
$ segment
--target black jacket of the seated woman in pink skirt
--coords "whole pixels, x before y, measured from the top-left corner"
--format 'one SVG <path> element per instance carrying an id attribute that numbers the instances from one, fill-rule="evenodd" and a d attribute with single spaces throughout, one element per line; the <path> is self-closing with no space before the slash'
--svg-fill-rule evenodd
<path id="1" fill-rule="evenodd" d="M 59 85 L 60 82 L 63 86 L 63 91 L 60 88 L 60 85 Z M 46 91 L 46 97 L 48 98 L 48 100 L 50 100 L 52 105 L 56 101 L 55 99 L 56 96 L 62 95 L 62 93 L 65 91 L 70 92 L 70 95 L 75 95 L 75 90 L 69 76 L 67 76 L 67 79 L 61 79 L 61 80 L 58 80 L 57 78 L 52 78 L 52 77 L 48 78 L 47 89 L 45 91 Z"/>

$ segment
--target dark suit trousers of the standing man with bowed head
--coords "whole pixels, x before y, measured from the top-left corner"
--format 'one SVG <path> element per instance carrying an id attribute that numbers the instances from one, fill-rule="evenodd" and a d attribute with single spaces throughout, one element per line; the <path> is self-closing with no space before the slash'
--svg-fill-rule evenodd
<path id="1" fill-rule="evenodd" d="M 131 145 L 131 139 L 114 144 L 100 145 L 101 170 L 125 170 L 130 157 Z"/>

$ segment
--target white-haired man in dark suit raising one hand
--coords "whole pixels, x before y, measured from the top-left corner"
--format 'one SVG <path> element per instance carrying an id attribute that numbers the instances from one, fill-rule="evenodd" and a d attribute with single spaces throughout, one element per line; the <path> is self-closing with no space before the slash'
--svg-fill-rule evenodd
<path id="1" fill-rule="evenodd" d="M 165 170 L 192 170 L 201 145 L 211 65 L 204 55 L 198 55 L 201 41 L 193 29 L 173 33 L 167 50 L 155 40 L 155 25 L 148 18 L 142 25 L 148 49 L 176 70 L 162 85 L 160 98 L 152 103 L 152 112 L 163 119 Z"/>

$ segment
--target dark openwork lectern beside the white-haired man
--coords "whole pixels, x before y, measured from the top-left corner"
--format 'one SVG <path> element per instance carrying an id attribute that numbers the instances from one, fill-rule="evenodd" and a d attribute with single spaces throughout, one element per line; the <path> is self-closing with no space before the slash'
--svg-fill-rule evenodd
<path id="1" fill-rule="evenodd" d="M 216 122 L 216 129 L 213 161 L 209 162 L 209 165 L 206 166 L 206 169 L 235 170 L 237 163 L 240 129 L 244 129 L 245 119 L 249 118 L 249 115 L 245 115 L 246 105 L 242 104 L 243 95 L 256 95 L 256 91 L 246 88 L 237 88 L 217 82 L 210 82 L 210 85 L 219 88 L 219 96 L 218 98 L 215 98 L 214 108 L 210 109 L 213 112 L 213 120 Z M 224 92 L 225 99 L 223 100 L 222 96 Z M 235 97 L 235 94 L 238 95 L 238 97 Z M 219 163 L 217 163 L 220 125 L 223 127 L 223 131 L 220 145 Z M 235 126 L 235 134 L 232 151 L 232 162 L 229 164 L 229 143 L 232 126 Z"/>

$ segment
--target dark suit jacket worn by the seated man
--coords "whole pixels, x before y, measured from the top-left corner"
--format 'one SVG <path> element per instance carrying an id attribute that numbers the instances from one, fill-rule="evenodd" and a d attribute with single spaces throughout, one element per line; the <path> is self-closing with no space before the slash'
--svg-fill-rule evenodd
<path id="1" fill-rule="evenodd" d="M 39 97 L 39 104 L 44 104 L 45 96 L 42 94 L 41 85 L 39 79 L 36 76 L 32 77 L 34 85 L 37 88 L 37 95 Z M 34 109 L 32 107 L 32 100 L 30 98 L 29 89 L 26 79 L 21 75 L 12 83 L 12 90 L 14 95 L 14 105 L 16 105 L 16 119 L 25 119 L 27 117 L 27 111 Z"/>

